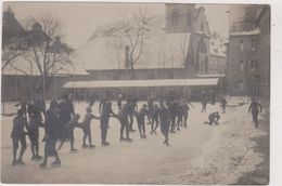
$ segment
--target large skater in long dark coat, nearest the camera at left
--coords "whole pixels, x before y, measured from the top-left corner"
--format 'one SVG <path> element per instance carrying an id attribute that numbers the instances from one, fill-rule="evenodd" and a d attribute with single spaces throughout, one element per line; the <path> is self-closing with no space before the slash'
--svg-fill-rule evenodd
<path id="1" fill-rule="evenodd" d="M 55 157 L 55 160 L 52 162 L 52 165 L 57 167 L 61 165 L 61 160 L 59 154 L 55 149 L 56 142 L 59 140 L 59 135 L 61 133 L 61 117 L 60 117 L 60 108 L 54 108 L 53 110 L 47 110 L 46 117 L 46 145 L 44 145 L 44 158 L 43 162 L 40 164 L 40 168 L 47 167 L 47 161 L 49 157 Z"/>

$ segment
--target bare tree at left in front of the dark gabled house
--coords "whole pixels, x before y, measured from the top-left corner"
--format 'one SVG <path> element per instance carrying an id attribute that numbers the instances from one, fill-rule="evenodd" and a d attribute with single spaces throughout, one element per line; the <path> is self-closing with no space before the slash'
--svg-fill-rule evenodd
<path id="1" fill-rule="evenodd" d="M 39 18 L 28 17 L 26 28 L 29 29 L 30 46 L 25 53 L 24 58 L 31 64 L 40 74 L 41 79 L 38 90 L 47 89 L 47 78 L 72 66 L 72 57 L 75 51 L 67 44 L 61 42 L 62 24 L 50 14 Z M 31 66 L 30 66 L 31 67 Z"/>

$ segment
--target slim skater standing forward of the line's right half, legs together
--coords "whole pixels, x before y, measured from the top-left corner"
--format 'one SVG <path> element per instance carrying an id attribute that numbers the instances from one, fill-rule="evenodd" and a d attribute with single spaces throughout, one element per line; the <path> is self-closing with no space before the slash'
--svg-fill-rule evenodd
<path id="1" fill-rule="evenodd" d="M 169 133 L 169 123 L 170 123 L 170 112 L 164 106 L 163 102 L 159 103 L 158 116 L 159 116 L 159 121 L 161 121 L 161 131 L 162 131 L 163 135 L 165 136 L 164 144 L 169 146 L 168 133 Z"/>

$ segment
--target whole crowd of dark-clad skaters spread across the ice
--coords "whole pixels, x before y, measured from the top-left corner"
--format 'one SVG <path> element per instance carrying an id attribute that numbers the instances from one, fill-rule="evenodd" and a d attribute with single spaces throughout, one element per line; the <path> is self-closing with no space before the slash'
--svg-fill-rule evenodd
<path id="1" fill-rule="evenodd" d="M 214 99 L 207 98 L 205 94 L 202 94 L 202 112 L 206 112 L 206 104 L 209 102 L 214 104 Z M 156 98 L 155 96 L 149 96 L 148 103 L 138 108 L 138 98 L 133 96 L 127 96 L 126 103 L 123 104 L 125 97 L 119 94 L 117 96 L 118 112 L 113 111 L 112 102 L 106 96 L 102 96 L 99 103 L 99 116 L 92 114 L 92 107 L 97 102 L 97 98 L 88 101 L 86 107 L 86 114 L 84 120 L 80 122 L 80 115 L 75 112 L 73 104 L 73 95 L 65 94 L 63 99 L 57 102 L 52 99 L 50 107 L 46 108 L 46 102 L 41 96 L 35 97 L 31 102 L 21 102 L 15 105 L 20 107 L 15 118 L 13 120 L 13 129 L 11 133 L 13 144 L 13 161 L 12 164 L 25 164 L 23 161 L 23 155 L 26 150 L 26 135 L 30 140 L 31 160 L 40 160 L 41 168 L 47 167 L 48 158 L 54 157 L 52 165 L 61 165 L 61 159 L 57 150 L 62 148 L 65 141 L 69 141 L 70 152 L 76 152 L 75 148 L 75 128 L 80 128 L 82 137 L 82 148 L 94 148 L 91 137 L 91 120 L 100 121 L 101 129 L 101 145 L 107 146 L 110 143 L 106 141 L 107 130 L 110 129 L 110 118 L 116 118 L 120 122 L 120 142 L 132 142 L 130 133 L 134 132 L 133 118 L 136 118 L 138 131 L 141 138 L 146 138 L 146 124 L 151 124 L 150 134 L 156 135 L 159 127 L 161 133 L 164 136 L 164 144 L 169 146 L 169 133 L 176 133 L 181 128 L 188 127 L 188 116 L 190 111 L 189 98 L 184 95 L 180 98 Z M 226 112 L 227 101 L 223 97 L 220 101 L 222 114 Z M 261 111 L 261 105 L 255 99 L 252 99 L 249 111 L 252 111 L 253 120 L 257 128 L 257 116 Z M 13 116 L 13 114 L 11 114 Z M 220 119 L 219 111 L 215 111 L 208 115 L 208 121 L 204 122 L 210 125 L 218 124 Z M 39 128 L 44 129 L 44 155 L 39 155 Z M 88 143 L 87 143 L 88 142 Z M 21 150 L 18 158 L 17 148 L 21 144 Z M 57 143 L 59 146 L 56 145 Z"/>

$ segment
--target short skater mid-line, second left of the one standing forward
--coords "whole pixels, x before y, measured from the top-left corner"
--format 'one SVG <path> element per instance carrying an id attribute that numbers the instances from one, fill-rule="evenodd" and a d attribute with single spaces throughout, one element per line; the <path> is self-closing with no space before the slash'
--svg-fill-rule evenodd
<path id="1" fill-rule="evenodd" d="M 141 138 L 146 138 L 145 135 L 145 116 L 149 118 L 149 110 L 146 109 L 146 105 L 143 104 L 142 108 L 139 110 L 139 112 L 136 112 L 137 118 L 137 124 L 140 133 Z"/>

